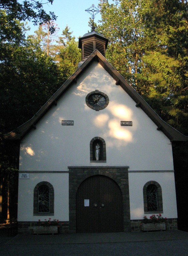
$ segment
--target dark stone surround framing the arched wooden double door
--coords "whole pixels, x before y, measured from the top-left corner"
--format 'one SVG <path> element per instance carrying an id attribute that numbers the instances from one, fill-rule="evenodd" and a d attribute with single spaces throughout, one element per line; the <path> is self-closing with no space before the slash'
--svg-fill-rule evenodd
<path id="1" fill-rule="evenodd" d="M 69 232 L 76 233 L 76 192 L 82 181 L 93 175 L 113 179 L 120 187 L 123 200 L 123 231 L 131 231 L 129 204 L 129 166 L 68 166 L 69 169 Z"/>

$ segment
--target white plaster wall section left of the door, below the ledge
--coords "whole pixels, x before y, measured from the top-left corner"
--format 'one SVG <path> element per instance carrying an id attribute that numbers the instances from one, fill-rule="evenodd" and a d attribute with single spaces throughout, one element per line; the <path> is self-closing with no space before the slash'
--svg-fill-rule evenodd
<path id="1" fill-rule="evenodd" d="M 54 188 L 54 216 L 33 216 L 33 192 L 41 181 L 50 182 Z M 29 173 L 29 179 L 19 179 L 18 221 L 68 221 L 68 207 L 68 173 Z"/>

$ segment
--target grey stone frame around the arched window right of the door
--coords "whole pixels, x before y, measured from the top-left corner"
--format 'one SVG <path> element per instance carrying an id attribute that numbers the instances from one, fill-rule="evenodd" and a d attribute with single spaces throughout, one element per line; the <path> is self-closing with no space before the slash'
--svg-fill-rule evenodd
<path id="1" fill-rule="evenodd" d="M 157 203 L 158 203 L 158 211 L 148 211 L 147 210 L 147 187 L 149 185 L 155 185 L 157 187 Z M 159 185 L 158 182 L 154 181 L 154 180 L 150 180 L 148 182 L 145 183 L 144 187 L 143 187 L 143 197 L 144 197 L 144 213 L 163 213 L 163 204 L 162 204 L 162 189 L 161 186 Z"/>

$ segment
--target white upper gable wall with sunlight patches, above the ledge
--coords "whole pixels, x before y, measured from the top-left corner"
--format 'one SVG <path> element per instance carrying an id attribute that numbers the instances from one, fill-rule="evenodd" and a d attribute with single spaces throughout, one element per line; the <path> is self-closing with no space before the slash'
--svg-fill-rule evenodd
<path id="1" fill-rule="evenodd" d="M 95 111 L 85 103 L 89 92 L 109 97 Z M 173 170 L 171 143 L 115 80 L 94 62 L 21 142 L 21 171 L 66 171 L 71 165 L 129 165 L 129 170 Z M 74 120 L 62 126 L 61 120 Z M 133 126 L 120 126 L 120 121 Z M 106 142 L 106 163 L 90 163 L 90 140 Z M 35 183 L 35 180 L 34 180 Z"/>

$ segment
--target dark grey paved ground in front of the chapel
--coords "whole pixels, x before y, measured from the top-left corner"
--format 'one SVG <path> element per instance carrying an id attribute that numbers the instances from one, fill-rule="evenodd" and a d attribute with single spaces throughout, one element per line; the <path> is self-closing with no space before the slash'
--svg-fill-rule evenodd
<path id="1" fill-rule="evenodd" d="M 0 235 L 3 256 L 188 256 L 188 232 Z"/>

